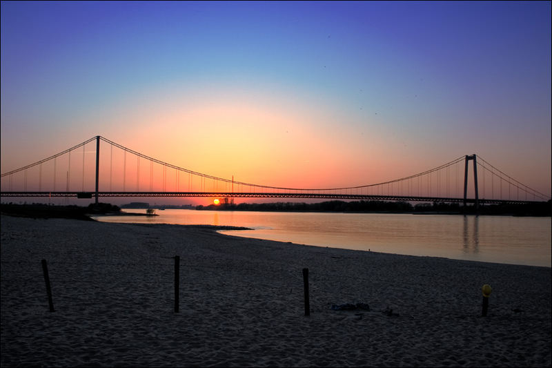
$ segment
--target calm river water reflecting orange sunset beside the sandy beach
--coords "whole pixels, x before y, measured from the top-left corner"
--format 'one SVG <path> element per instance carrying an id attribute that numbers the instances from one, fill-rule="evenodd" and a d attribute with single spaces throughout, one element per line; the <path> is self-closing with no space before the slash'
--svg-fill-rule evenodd
<path id="1" fill-rule="evenodd" d="M 145 213 L 146 210 L 126 210 Z M 106 222 L 211 224 L 230 235 L 407 255 L 551 267 L 550 217 L 157 210 Z"/>

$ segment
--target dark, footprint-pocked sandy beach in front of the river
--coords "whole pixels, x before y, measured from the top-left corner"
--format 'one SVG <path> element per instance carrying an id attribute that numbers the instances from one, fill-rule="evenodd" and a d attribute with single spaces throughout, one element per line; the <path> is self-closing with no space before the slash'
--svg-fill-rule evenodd
<path id="1" fill-rule="evenodd" d="M 551 367 L 546 267 L 5 215 L 0 249 L 2 367 Z"/>

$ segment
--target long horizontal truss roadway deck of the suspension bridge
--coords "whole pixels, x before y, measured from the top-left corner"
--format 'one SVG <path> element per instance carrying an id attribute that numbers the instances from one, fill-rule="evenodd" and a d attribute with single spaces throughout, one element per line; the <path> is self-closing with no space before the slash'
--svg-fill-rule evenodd
<path id="1" fill-rule="evenodd" d="M 0 197 L 77 197 L 92 198 L 96 192 L 0 192 Z M 368 195 L 344 193 L 228 193 L 228 192 L 98 192 L 99 197 L 235 197 L 235 198 L 313 198 L 320 200 L 364 200 L 402 202 L 464 203 L 457 197 L 420 197 L 408 195 Z M 475 199 L 466 198 L 467 203 Z M 479 199 L 479 204 L 526 204 L 542 201 Z"/>

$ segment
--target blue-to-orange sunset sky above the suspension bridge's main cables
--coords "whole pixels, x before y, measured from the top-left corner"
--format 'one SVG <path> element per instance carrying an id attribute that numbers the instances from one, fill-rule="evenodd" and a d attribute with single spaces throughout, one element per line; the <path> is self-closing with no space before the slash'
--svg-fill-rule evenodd
<path id="1" fill-rule="evenodd" d="M 551 195 L 551 2 L 1 2 L 1 172 L 101 135 L 355 186 L 476 153 Z"/>

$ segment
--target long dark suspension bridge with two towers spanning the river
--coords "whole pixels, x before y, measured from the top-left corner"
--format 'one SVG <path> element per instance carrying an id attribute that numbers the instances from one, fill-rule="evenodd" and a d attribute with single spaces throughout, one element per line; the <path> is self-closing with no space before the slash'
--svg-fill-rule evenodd
<path id="1" fill-rule="evenodd" d="M 550 199 L 475 154 L 386 182 L 339 188 L 286 188 L 191 171 L 99 135 L 1 174 L 0 186 L 0 197 L 93 197 L 96 203 L 99 197 L 279 197 L 449 202 L 473 204 L 477 209 L 480 204 L 526 204 Z"/>

